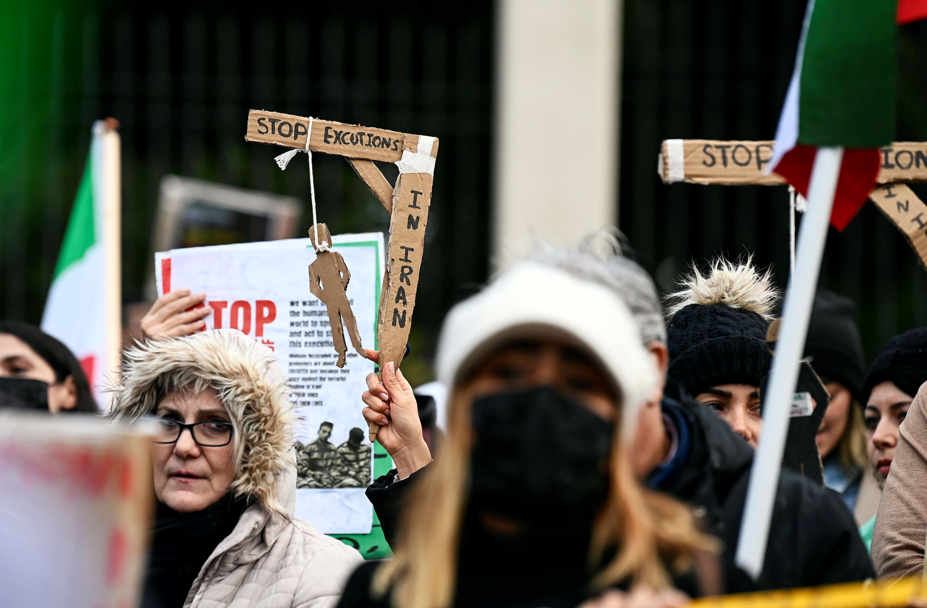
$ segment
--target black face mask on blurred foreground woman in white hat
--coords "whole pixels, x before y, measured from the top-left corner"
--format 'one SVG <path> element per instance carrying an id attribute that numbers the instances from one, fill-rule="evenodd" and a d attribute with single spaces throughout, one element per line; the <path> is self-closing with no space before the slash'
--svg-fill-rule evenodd
<path id="1" fill-rule="evenodd" d="M 550 525 L 604 499 L 613 424 L 552 387 L 476 399 L 473 428 L 472 509 Z"/>

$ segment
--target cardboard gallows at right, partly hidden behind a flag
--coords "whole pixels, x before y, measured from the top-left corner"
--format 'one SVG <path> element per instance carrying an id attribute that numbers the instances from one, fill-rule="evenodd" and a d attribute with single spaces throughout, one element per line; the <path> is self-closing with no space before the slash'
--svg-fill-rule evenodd
<path id="1" fill-rule="evenodd" d="M 786 185 L 766 174 L 775 142 L 667 139 L 658 171 L 665 184 Z M 870 200 L 901 231 L 927 268 L 927 205 L 905 182 L 927 182 L 927 142 L 895 142 L 880 149 L 882 167 Z"/>

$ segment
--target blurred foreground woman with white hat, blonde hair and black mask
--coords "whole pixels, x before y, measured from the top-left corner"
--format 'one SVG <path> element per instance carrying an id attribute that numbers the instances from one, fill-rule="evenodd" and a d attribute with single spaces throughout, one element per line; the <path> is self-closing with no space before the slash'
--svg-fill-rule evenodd
<path id="1" fill-rule="evenodd" d="M 625 446 L 656 373 L 613 292 L 521 264 L 451 310 L 437 367 L 451 399 L 433 464 L 402 374 L 387 363 L 382 385 L 368 378 L 364 416 L 382 424 L 397 477 L 427 466 L 395 557 L 362 565 L 339 605 L 576 606 L 669 589 L 713 548 L 631 473 Z"/>

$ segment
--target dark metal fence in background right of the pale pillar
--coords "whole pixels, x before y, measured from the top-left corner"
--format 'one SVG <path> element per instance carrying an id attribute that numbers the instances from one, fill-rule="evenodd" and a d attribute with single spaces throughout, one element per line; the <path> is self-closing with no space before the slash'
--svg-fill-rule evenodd
<path id="1" fill-rule="evenodd" d="M 805 5 L 626 0 L 620 223 L 667 292 L 691 260 L 718 254 L 752 253 L 787 281 L 786 188 L 664 185 L 656 155 L 669 138 L 773 138 Z M 925 141 L 927 26 L 899 28 L 898 44 L 896 139 Z M 857 302 L 870 360 L 891 336 L 927 324 L 927 272 L 873 205 L 843 234 L 831 230 L 820 285 Z"/>

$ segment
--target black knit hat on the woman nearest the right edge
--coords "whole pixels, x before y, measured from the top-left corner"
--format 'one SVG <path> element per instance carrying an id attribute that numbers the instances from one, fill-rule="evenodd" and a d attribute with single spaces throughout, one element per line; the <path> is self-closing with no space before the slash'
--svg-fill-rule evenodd
<path id="1" fill-rule="evenodd" d="M 919 327 L 893 337 L 872 363 L 863 383 L 863 407 L 869 401 L 872 388 L 886 380 L 912 398 L 927 382 L 927 328 Z"/>

